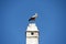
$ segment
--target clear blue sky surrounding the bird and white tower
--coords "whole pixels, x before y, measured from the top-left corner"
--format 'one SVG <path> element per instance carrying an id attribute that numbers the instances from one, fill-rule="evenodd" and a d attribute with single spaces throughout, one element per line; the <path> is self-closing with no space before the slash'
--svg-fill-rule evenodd
<path id="1" fill-rule="evenodd" d="M 28 20 L 35 12 L 40 44 L 66 44 L 64 0 L 1 0 L 0 3 L 0 44 L 25 44 Z"/>

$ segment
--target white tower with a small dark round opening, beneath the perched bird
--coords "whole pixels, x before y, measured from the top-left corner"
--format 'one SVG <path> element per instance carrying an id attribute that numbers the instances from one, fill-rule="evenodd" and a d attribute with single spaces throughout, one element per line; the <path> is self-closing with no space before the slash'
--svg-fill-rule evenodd
<path id="1" fill-rule="evenodd" d="M 30 23 L 26 29 L 26 44 L 38 44 L 38 30 L 35 23 Z"/>

